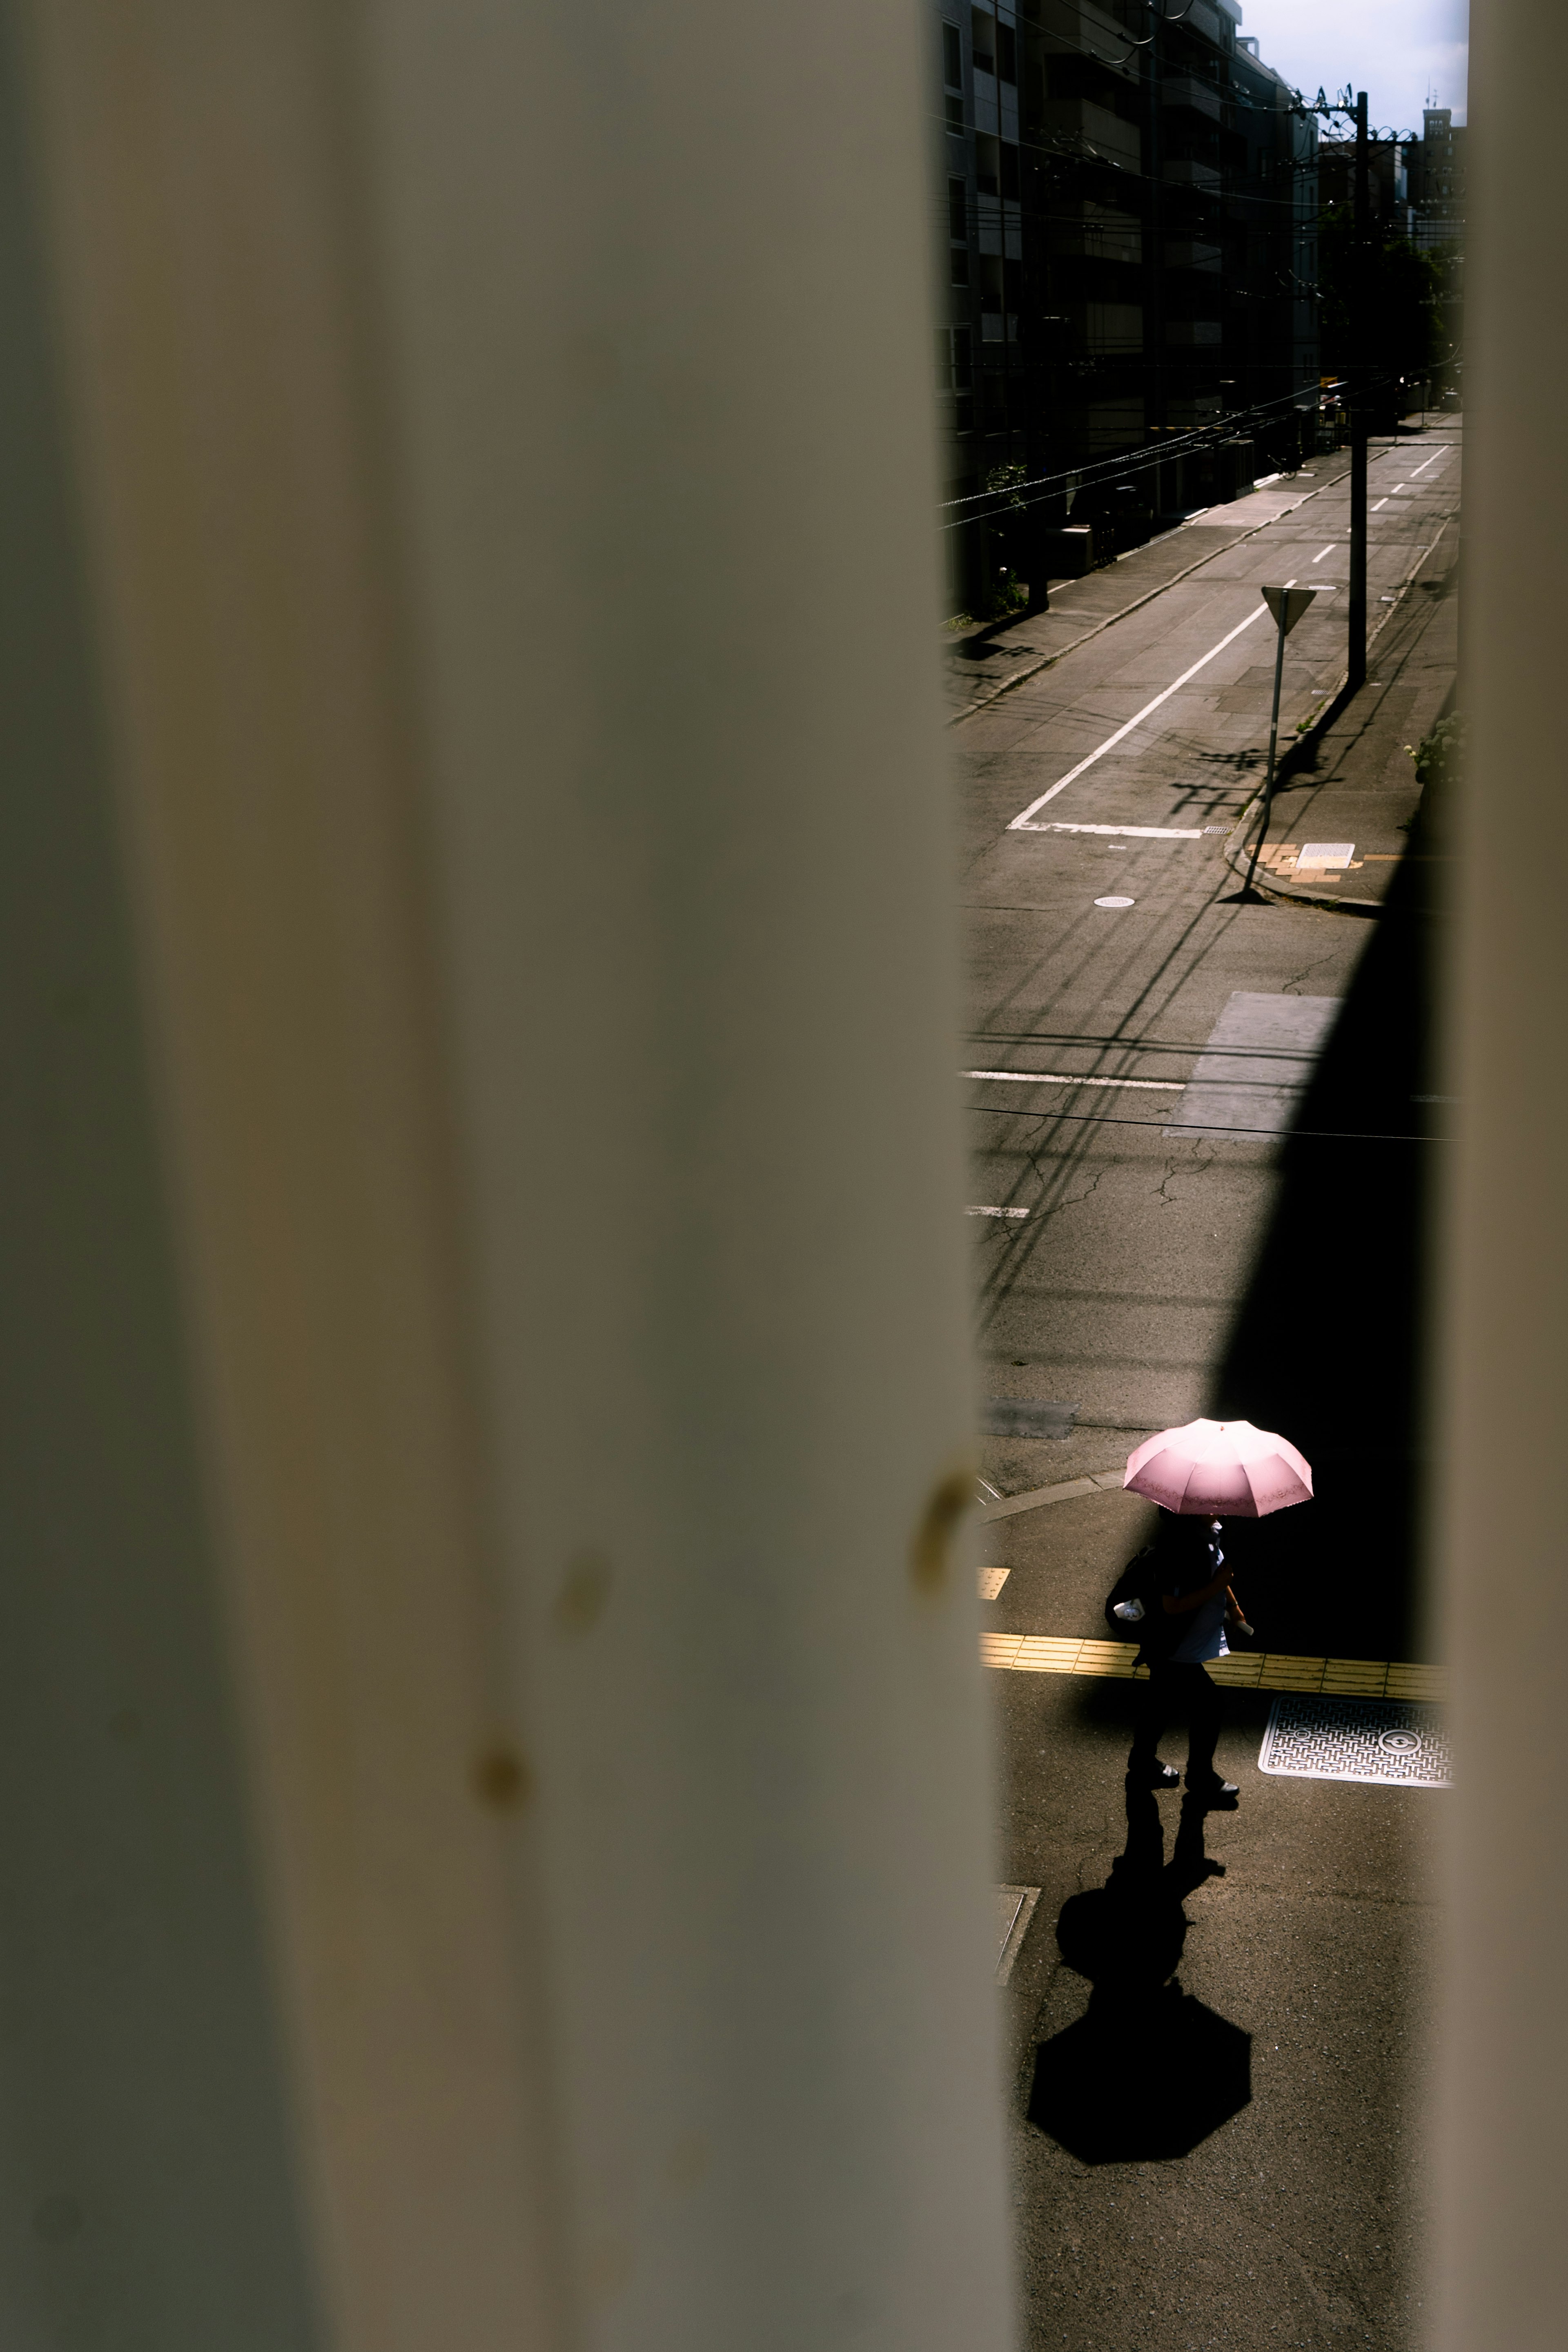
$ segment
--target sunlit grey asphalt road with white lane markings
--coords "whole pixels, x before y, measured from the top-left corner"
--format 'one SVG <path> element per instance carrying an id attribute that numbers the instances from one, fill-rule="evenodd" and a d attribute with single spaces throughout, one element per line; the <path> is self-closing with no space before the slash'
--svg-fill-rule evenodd
<path id="1" fill-rule="evenodd" d="M 1375 456 L 1373 609 L 1453 534 L 1458 442 L 1443 426 Z M 1425 1037 L 1434 868 L 1425 849 L 1401 866 L 1368 922 L 1241 906 L 1222 861 L 1267 746 L 1260 583 L 1347 579 L 1347 485 L 1288 503 L 1309 489 L 1255 494 L 1274 520 L 1244 541 L 1251 517 L 1225 508 L 1213 562 L 957 734 L 969 1065 L 1011 1073 L 971 1082 L 971 1204 L 1013 1211 L 971 1221 L 983 1381 L 990 1397 L 1079 1406 L 1067 1439 L 992 1437 L 980 1458 L 1013 1494 L 1110 1470 L 1140 1428 L 1199 1411 L 1286 1428 L 1319 1501 L 1232 1552 L 1260 1644 L 1422 1658 L 1410 1517 L 1420 1218 L 1443 1148 Z M 1201 548 L 1204 529 L 1185 536 Z M 1058 621 L 1067 604 L 1063 590 Z M 1342 628 L 1342 595 L 1321 595 L 1288 640 L 1291 727 L 1333 691 Z M 1279 1014 L 1328 1035 L 1314 1063 L 1288 1063 L 1288 1134 L 1180 1127 L 1237 997 L 1319 1000 Z M 1034 1073 L 1051 1082 L 1016 1082 Z M 983 1559 L 1009 1571 L 985 1623 L 1100 1635 L 1147 1519 L 1110 1491 L 985 1526 Z M 1025 2343 L 1422 2345 L 1413 2150 L 1441 1792 L 1265 1778 L 1267 1700 L 1232 1693 L 1220 1764 L 1241 1809 L 1190 1823 L 1178 1851 L 1173 1799 L 1124 1806 L 1126 1684 L 992 1684 L 999 1877 L 1041 1889 L 1009 1990 Z M 1166 1755 L 1180 1762 L 1180 1733 Z M 1041 2046 L 1039 2082 L 1058 2086 L 1044 2105 Z M 1185 2077 L 1150 2065 L 1171 2046 L 1192 2056 Z M 1237 2067 L 1244 2093 L 1227 2100 L 1213 2084 Z M 1190 2084 L 1180 2150 L 1173 2079 Z M 1081 2091 L 1067 2119 L 1063 2084 Z"/>

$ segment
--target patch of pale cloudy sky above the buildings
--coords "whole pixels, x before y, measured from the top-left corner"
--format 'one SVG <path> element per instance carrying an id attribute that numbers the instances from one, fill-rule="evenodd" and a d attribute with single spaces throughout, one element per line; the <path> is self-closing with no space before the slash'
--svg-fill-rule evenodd
<path id="1" fill-rule="evenodd" d="M 1305 96 L 1366 89 L 1373 125 L 1418 132 L 1427 92 L 1465 120 L 1467 0 L 1241 0 L 1265 66 Z"/>

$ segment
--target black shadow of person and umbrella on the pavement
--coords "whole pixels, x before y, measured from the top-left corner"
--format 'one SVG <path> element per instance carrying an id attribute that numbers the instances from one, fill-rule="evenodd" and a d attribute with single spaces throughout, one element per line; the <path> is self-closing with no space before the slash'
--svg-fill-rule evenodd
<path id="1" fill-rule="evenodd" d="M 1166 1863 L 1159 1802 L 1128 1788 L 1110 1882 L 1063 1903 L 1056 1940 L 1093 1992 L 1077 2025 L 1034 2053 L 1030 2122 L 1084 2164 L 1187 2157 L 1253 2096 L 1253 2037 L 1173 1980 L 1182 1898 L 1220 1875 L 1201 1806 L 1182 1804 Z"/>

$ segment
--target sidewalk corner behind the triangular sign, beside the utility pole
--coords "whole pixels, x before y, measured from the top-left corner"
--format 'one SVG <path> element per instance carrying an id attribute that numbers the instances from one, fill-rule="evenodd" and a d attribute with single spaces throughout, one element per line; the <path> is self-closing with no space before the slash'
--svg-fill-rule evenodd
<path id="1" fill-rule="evenodd" d="M 1410 750 L 1436 727 L 1458 675 L 1455 564 L 1458 532 L 1446 527 L 1387 621 L 1373 623 L 1366 687 L 1291 748 L 1258 856 L 1255 889 L 1269 898 L 1356 915 L 1380 910 L 1420 802 Z M 1239 875 L 1258 840 L 1260 807 L 1262 800 L 1251 802 L 1225 844 Z M 1302 866 L 1307 851 L 1340 858 Z"/>

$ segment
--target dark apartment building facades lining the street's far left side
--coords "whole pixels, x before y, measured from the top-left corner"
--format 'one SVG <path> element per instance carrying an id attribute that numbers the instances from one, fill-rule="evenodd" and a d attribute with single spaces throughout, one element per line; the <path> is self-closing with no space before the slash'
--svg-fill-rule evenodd
<path id="1" fill-rule="evenodd" d="M 1105 461 L 1265 405 L 1284 447 L 1316 395 L 1316 125 L 1237 0 L 931 0 L 931 19 L 947 496 L 1093 468 L 1034 520 L 1147 534 L 1222 494 L 1225 468 L 1204 454 L 1107 485 Z M 950 541 L 973 602 L 985 529 Z"/>

